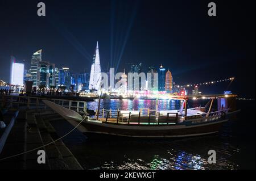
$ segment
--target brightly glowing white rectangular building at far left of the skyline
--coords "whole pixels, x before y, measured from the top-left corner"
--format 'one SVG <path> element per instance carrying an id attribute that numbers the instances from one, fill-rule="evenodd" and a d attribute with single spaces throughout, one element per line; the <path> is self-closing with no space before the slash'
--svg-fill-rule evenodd
<path id="1" fill-rule="evenodd" d="M 24 64 L 17 63 L 15 58 L 11 56 L 10 84 L 23 86 L 23 78 Z"/>

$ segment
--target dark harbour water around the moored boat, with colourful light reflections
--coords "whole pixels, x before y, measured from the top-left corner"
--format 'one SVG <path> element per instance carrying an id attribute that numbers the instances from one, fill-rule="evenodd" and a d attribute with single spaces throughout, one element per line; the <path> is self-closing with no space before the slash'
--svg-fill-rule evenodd
<path id="1" fill-rule="evenodd" d="M 163 100 L 159 108 L 179 108 L 179 101 Z M 191 102 L 191 106 L 204 104 Z M 134 106 L 134 107 L 133 107 Z M 155 108 L 152 100 L 105 100 L 101 108 Z M 96 108 L 97 103 L 89 103 Z M 167 140 L 93 141 L 79 131 L 64 138 L 85 169 L 255 169 L 255 102 L 237 100 L 242 111 L 218 134 Z M 59 136 L 72 129 L 66 121 L 55 121 Z M 215 150 L 216 164 L 208 163 L 208 151 Z"/>

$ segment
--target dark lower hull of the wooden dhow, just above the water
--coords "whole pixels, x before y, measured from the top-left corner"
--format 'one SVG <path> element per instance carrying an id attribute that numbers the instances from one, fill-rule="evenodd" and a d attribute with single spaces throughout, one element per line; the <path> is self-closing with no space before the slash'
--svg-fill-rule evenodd
<path id="1" fill-rule="evenodd" d="M 191 137 L 217 133 L 222 124 L 228 120 L 213 121 L 199 124 L 177 125 L 122 125 L 111 123 L 93 123 L 86 121 L 82 125 L 86 128 L 86 134 L 90 136 L 112 135 L 121 137 L 144 137 L 144 138 L 168 138 L 168 137 Z"/>

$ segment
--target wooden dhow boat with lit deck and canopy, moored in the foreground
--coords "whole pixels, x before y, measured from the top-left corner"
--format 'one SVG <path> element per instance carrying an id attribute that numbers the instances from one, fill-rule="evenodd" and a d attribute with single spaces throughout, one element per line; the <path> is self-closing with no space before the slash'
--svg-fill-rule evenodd
<path id="1" fill-rule="evenodd" d="M 114 116 L 113 110 L 105 110 L 102 116 L 100 116 L 100 111 L 97 111 L 94 118 L 82 117 L 79 113 L 49 100 L 43 100 L 43 102 L 89 137 L 112 135 L 167 138 L 217 133 L 222 124 L 240 111 L 236 110 L 236 96 L 233 94 L 177 96 L 174 99 L 183 101 L 180 110 L 157 111 L 156 109 L 152 112 L 152 110 L 146 109 L 147 113 L 143 113 L 142 110 L 118 110 Z M 187 102 L 189 99 L 209 99 L 209 102 L 205 107 L 188 108 Z M 217 111 L 212 111 L 214 99 L 217 99 Z"/>

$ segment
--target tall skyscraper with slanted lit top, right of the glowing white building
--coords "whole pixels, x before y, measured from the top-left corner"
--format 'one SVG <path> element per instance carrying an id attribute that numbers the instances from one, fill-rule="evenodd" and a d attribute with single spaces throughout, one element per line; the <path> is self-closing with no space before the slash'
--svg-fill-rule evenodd
<path id="1" fill-rule="evenodd" d="M 31 72 L 30 73 L 31 73 L 31 81 L 34 81 L 33 82 L 34 87 L 35 86 L 39 87 L 38 65 L 39 65 L 40 61 L 42 61 L 42 49 L 35 52 L 31 58 L 31 65 L 30 65 Z"/>

